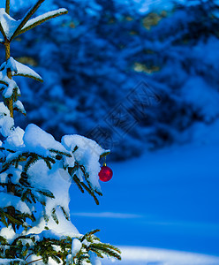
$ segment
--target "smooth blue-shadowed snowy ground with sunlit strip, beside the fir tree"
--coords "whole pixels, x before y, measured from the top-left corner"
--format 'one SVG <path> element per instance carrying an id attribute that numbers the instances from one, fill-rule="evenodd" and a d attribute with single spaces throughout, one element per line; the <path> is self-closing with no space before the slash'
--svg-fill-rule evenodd
<path id="1" fill-rule="evenodd" d="M 108 164 L 114 177 L 100 206 L 73 187 L 72 222 L 81 232 L 100 228 L 104 242 L 156 248 L 125 247 L 125 264 L 219 264 L 198 255 L 219 257 L 218 129 L 197 125 L 193 144 Z"/>

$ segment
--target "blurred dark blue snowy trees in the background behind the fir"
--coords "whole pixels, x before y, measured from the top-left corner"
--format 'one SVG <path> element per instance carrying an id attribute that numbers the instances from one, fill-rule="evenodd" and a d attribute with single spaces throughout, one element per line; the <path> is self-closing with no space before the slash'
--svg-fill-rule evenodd
<path id="1" fill-rule="evenodd" d="M 18 59 L 48 79 L 19 80 L 27 122 L 57 139 L 90 135 L 114 159 L 184 142 L 195 122 L 214 122 L 218 6 L 187 3 L 142 14 L 129 1 L 53 0 L 69 10 L 62 27 L 36 27 L 34 42 L 20 35 L 14 46 L 13 57 L 23 52 Z"/>

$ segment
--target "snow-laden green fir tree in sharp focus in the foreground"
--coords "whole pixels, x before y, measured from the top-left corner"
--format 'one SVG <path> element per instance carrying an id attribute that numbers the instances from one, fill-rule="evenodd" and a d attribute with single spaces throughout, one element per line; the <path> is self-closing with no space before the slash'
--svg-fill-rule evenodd
<path id="1" fill-rule="evenodd" d="M 26 115 L 26 110 L 14 77 L 42 77 L 11 57 L 11 42 L 67 13 L 62 8 L 32 18 L 42 2 L 36 1 L 19 20 L 10 16 L 10 0 L 0 9 L 0 42 L 5 49 L 0 66 L 0 264 L 100 264 L 97 257 L 120 259 L 117 247 L 96 237 L 98 230 L 84 235 L 77 231 L 68 206 L 72 182 L 98 204 L 99 161 L 109 150 L 83 136 L 64 135 L 58 142 L 37 125 L 25 130 L 15 125 L 14 113 Z"/>

